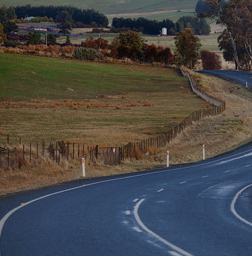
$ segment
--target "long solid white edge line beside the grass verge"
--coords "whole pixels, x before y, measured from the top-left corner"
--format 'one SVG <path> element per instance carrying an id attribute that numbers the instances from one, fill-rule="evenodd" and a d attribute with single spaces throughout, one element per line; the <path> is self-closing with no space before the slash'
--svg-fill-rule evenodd
<path id="1" fill-rule="evenodd" d="M 106 181 L 97 181 L 95 183 L 89 183 L 89 184 L 85 184 L 85 185 L 81 185 L 81 186 L 78 186 L 78 187 L 73 187 L 71 189 L 65 189 L 65 190 L 62 190 L 62 191 L 58 191 L 58 192 L 55 192 L 55 193 L 51 193 L 51 194 L 48 194 L 48 195 L 44 195 L 42 197 L 38 197 L 36 199 L 33 199 L 31 201 L 28 201 L 26 202 L 26 204 L 24 205 L 19 205 L 18 207 L 15 207 L 13 208 L 11 211 L 7 212 L 7 214 L 5 214 L 5 216 L 3 216 L 3 218 L 1 218 L 0 220 L 0 242 L 1 242 L 1 234 L 2 234 L 2 231 L 3 231 L 3 226 L 5 224 L 5 222 L 7 221 L 7 219 L 11 216 L 11 214 L 13 214 L 14 212 L 16 212 L 17 210 L 19 210 L 20 208 L 22 207 L 25 207 L 27 205 L 29 205 L 30 203 L 34 203 L 35 201 L 38 201 L 40 199 L 44 199 L 46 197 L 50 197 L 52 195 L 57 195 L 59 193 L 65 193 L 67 191 L 71 191 L 71 190 L 74 190 L 74 189 L 81 189 L 83 187 L 87 187 L 87 186 L 91 186 L 91 185 L 96 185 L 96 184 L 101 184 L 101 183 L 107 183 L 107 182 L 111 182 L 111 181 L 119 181 L 119 180 L 122 180 L 122 179 L 131 179 L 131 178 L 135 178 L 135 177 L 141 177 L 141 176 L 145 176 L 145 175 L 152 175 L 152 174 L 157 174 L 157 173 L 161 173 L 161 172 L 169 172 L 171 170 L 183 170 L 183 169 L 188 169 L 188 168 L 194 168 L 194 167 L 198 167 L 198 166 L 204 166 L 204 165 L 207 165 L 207 164 L 212 164 L 214 162 L 219 162 L 219 161 L 222 161 L 222 160 L 225 160 L 225 159 L 228 159 L 228 158 L 233 158 L 234 156 L 239 156 L 241 154 L 245 154 L 247 152 L 251 152 L 252 150 L 246 150 L 245 152 L 241 152 L 241 153 L 238 153 L 238 154 L 234 154 L 232 156 L 228 156 L 226 158 L 221 158 L 221 159 L 218 159 L 218 160 L 214 160 L 214 161 L 211 161 L 211 162 L 206 162 L 204 164 L 192 164 L 192 166 L 186 166 L 186 167 L 181 167 L 181 168 L 170 168 L 170 169 L 167 169 L 167 170 L 159 170 L 159 171 L 155 171 L 155 172 L 149 172 L 149 173 L 143 173 L 143 174 L 136 174 L 136 175 L 132 175 L 132 176 L 128 176 L 128 177 L 122 177 L 122 178 L 116 178 L 116 179 L 110 179 L 110 180 L 106 180 Z M 1 245 L 1 244 L 0 244 Z M 0 251 L 0 256 L 1 256 L 1 251 Z"/>

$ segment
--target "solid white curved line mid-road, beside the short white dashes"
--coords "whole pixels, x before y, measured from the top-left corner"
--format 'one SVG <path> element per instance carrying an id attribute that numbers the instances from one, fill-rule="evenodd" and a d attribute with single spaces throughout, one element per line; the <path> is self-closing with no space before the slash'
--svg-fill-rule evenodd
<path id="1" fill-rule="evenodd" d="M 134 207 L 134 217 L 136 219 L 136 222 L 138 223 L 138 225 L 147 233 L 151 234 L 151 236 L 154 236 L 155 238 L 157 238 L 159 241 L 161 241 L 162 243 L 164 243 L 165 245 L 168 245 L 169 247 L 171 247 L 171 249 L 177 251 L 178 253 L 181 253 L 182 255 L 185 256 L 193 256 L 191 253 L 187 253 L 187 251 L 184 251 L 183 249 L 177 247 L 176 245 L 173 245 L 172 243 L 170 243 L 169 241 L 165 240 L 165 238 L 159 236 L 158 234 L 156 234 L 155 232 L 153 232 L 152 230 L 150 230 L 149 228 L 147 228 L 143 223 L 142 220 L 140 220 L 139 214 L 138 214 L 138 209 L 140 204 L 144 201 L 144 199 L 141 199 L 140 201 L 138 201 L 138 203 L 136 203 L 135 207 Z"/>

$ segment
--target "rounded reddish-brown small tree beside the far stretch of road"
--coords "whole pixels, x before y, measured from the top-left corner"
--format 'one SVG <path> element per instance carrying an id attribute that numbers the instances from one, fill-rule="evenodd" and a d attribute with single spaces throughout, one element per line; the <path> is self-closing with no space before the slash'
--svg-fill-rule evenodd
<path id="1" fill-rule="evenodd" d="M 200 52 L 200 58 L 202 59 L 203 69 L 206 70 L 219 70 L 221 69 L 220 56 L 214 52 L 208 50 L 202 50 Z"/>

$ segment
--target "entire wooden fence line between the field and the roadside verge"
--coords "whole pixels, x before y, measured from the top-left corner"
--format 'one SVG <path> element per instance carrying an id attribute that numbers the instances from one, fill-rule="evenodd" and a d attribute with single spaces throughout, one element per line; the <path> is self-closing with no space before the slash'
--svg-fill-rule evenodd
<path id="1" fill-rule="evenodd" d="M 182 75 L 188 77 L 190 80 L 192 91 L 207 102 L 213 104 L 214 107 L 194 111 L 194 113 L 183 119 L 183 121 L 178 125 L 175 125 L 175 127 L 169 129 L 169 131 L 155 137 L 150 137 L 149 139 L 141 141 L 130 141 L 125 146 L 108 147 L 106 150 L 99 150 L 99 146 L 85 146 L 84 144 L 65 143 L 64 141 L 57 141 L 55 145 L 50 143 L 48 148 L 46 148 L 45 142 L 42 141 L 42 149 L 40 152 L 38 142 L 36 143 L 35 150 L 32 148 L 32 143 L 30 143 L 28 148 L 23 145 L 21 150 L 16 150 L 15 148 L 14 150 L 9 150 L 9 148 L 0 147 L 0 168 L 16 167 L 19 166 L 22 158 L 32 162 L 33 158 L 38 159 L 39 156 L 48 156 L 58 164 L 62 158 L 66 160 L 86 158 L 90 159 L 92 162 L 93 160 L 99 160 L 103 164 L 120 164 L 121 160 L 138 158 L 139 154 L 147 154 L 151 149 L 163 148 L 176 139 L 184 129 L 190 127 L 193 122 L 200 121 L 205 117 L 219 115 L 224 112 L 226 109 L 224 101 L 209 96 L 199 88 L 196 88 L 190 73 L 183 71 L 183 68 L 181 67 L 179 67 L 179 69 L 181 70 Z M 19 138 L 19 142 L 21 142 L 21 138 Z M 9 135 L 7 135 L 7 143 L 9 143 Z"/>

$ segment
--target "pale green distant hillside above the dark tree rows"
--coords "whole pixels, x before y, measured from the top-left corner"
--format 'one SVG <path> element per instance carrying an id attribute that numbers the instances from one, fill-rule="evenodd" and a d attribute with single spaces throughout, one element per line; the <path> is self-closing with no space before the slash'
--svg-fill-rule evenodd
<path id="1" fill-rule="evenodd" d="M 197 2 L 198 0 L 2 0 L 0 4 L 73 5 L 82 9 L 95 9 L 104 14 L 116 14 L 195 9 Z"/>

